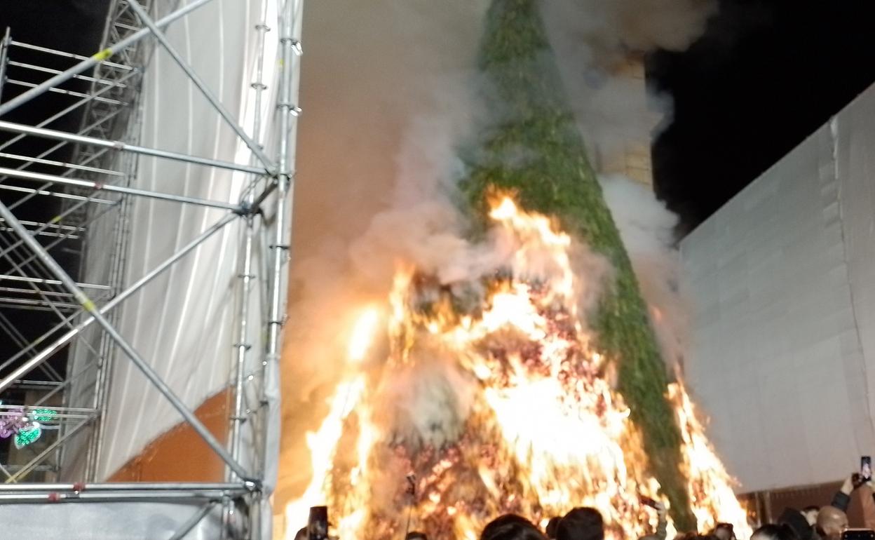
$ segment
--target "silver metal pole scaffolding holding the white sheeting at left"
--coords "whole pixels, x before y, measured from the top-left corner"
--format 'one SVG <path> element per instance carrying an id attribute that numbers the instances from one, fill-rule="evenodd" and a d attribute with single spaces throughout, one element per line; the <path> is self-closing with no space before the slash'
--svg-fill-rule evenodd
<path id="1" fill-rule="evenodd" d="M 260 20 L 245 29 L 258 44 L 249 125 L 166 34 L 221 1 L 111 0 L 103 44 L 91 56 L 23 43 L 9 31 L 0 43 L 0 502 L 179 501 L 191 511 L 180 514 L 185 519 L 168 537 L 190 537 L 208 519 L 219 523 L 222 537 L 270 537 L 302 0 L 263 0 Z M 197 88 L 246 158 L 141 144 L 141 94 L 157 51 Z M 265 66 L 275 73 L 265 74 Z M 276 112 L 263 117 L 268 107 Z M 144 158 L 233 172 L 243 180 L 232 197 L 172 193 L 140 179 Z M 202 207 L 219 217 L 151 270 L 132 276 L 132 238 L 150 233 L 132 218 L 143 200 Z M 195 416 L 197 403 L 186 403 L 191 400 L 178 395 L 119 325 L 131 298 L 232 226 L 239 244 L 229 314 L 234 339 L 227 343 L 231 368 L 222 383 L 232 405 L 223 443 Z M 221 458 L 224 482 L 102 481 L 109 396 L 123 362 Z"/>

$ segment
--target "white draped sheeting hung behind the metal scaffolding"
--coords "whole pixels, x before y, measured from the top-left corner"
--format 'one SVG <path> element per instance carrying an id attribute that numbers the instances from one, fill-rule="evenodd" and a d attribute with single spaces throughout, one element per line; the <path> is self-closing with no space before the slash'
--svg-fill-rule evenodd
<path id="1" fill-rule="evenodd" d="M 173 46 L 206 82 L 249 135 L 253 119 L 262 117 L 262 134 L 275 127 L 276 0 L 214 0 L 180 19 L 166 31 Z M 300 2 L 293 2 L 299 5 Z M 158 3 L 158 15 L 179 2 Z M 263 18 L 263 17 L 267 18 Z M 263 81 L 268 86 L 262 109 L 255 110 L 258 32 L 255 25 L 267 20 L 274 27 L 266 39 Z M 206 98 L 168 53 L 156 46 L 144 77 L 143 135 L 140 144 L 246 164 L 249 151 L 211 108 Z M 272 137 L 262 136 L 273 155 Z M 186 165 L 166 159 L 141 158 L 134 186 L 164 193 L 237 203 L 251 175 Z M 272 208 L 268 201 L 266 207 Z M 226 211 L 174 202 L 137 199 L 130 216 L 130 246 L 126 282 L 132 283 L 180 247 L 221 219 Z M 248 372 L 261 366 L 264 343 L 263 291 L 267 278 L 269 231 L 255 220 L 254 294 L 249 308 L 249 339 L 252 345 Z M 232 380 L 234 344 L 238 327 L 241 220 L 214 235 L 172 270 L 147 285 L 123 305 L 118 328 L 123 336 L 155 368 L 172 390 L 192 409 Z M 276 381 L 269 393 L 276 395 Z M 257 403 L 257 402 L 256 402 Z M 256 406 L 256 405 L 255 405 Z M 276 407 L 271 407 L 276 409 Z M 123 355 L 116 363 L 109 389 L 104 444 L 99 479 L 114 473 L 136 456 L 151 440 L 181 421 L 163 396 Z M 271 444 L 276 445 L 278 413 L 273 415 Z M 244 434 L 249 437 L 251 434 Z M 244 445 L 248 445 L 244 443 Z M 275 455 L 275 451 L 269 452 Z M 248 465 L 248 464 L 244 464 Z M 276 463 L 269 463 L 266 480 L 274 484 Z"/>

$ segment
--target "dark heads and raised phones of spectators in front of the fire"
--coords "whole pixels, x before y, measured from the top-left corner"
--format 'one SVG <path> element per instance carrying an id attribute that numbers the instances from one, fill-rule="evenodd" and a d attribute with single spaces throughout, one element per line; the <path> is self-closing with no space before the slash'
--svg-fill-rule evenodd
<path id="1" fill-rule="evenodd" d="M 830 505 L 819 508 L 785 508 L 774 523 L 767 523 L 753 531 L 751 540 L 844 540 L 848 530 L 848 507 L 851 494 L 862 489 L 861 497 L 865 529 L 875 529 L 875 490 L 872 480 L 864 481 L 852 474 L 833 496 Z M 662 503 L 648 501 L 658 515 L 652 534 L 639 540 L 667 540 L 668 520 Z M 300 529 L 295 540 L 307 540 L 307 529 Z M 872 536 L 875 538 L 875 536 Z M 429 540 L 424 532 L 409 532 L 405 540 Z M 489 522 L 480 533 L 479 540 L 605 540 L 605 522 L 595 508 L 573 508 L 562 517 L 549 520 L 544 529 L 521 515 L 501 515 Z M 679 534 L 674 540 L 737 540 L 730 523 L 718 523 L 709 531 L 693 531 Z"/>

